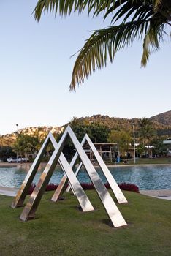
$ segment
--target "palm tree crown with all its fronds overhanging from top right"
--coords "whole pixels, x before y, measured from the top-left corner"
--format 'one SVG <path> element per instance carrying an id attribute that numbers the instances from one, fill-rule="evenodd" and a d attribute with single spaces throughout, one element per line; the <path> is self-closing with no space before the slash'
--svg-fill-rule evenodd
<path id="1" fill-rule="evenodd" d="M 94 31 L 79 51 L 72 72 L 70 89 L 83 83 L 95 69 L 113 62 L 115 53 L 134 39 L 143 40 L 141 64 L 146 66 L 151 51 L 159 50 L 164 39 L 165 26 L 171 26 L 170 0 L 39 0 L 34 9 L 36 20 L 42 12 L 70 15 L 88 11 L 88 14 L 111 17 L 111 26 Z M 116 22 L 120 22 L 116 25 Z"/>

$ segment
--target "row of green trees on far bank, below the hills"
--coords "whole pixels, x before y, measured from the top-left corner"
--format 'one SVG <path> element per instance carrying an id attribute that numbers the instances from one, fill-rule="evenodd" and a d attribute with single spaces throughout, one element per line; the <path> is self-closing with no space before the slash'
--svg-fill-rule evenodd
<path id="1" fill-rule="evenodd" d="M 67 124 L 66 124 L 67 125 Z M 72 127 L 78 140 L 81 142 L 84 135 L 87 133 L 93 143 L 117 143 L 118 150 L 121 156 L 124 156 L 129 148 L 134 146 L 133 142 L 133 126 L 130 127 L 110 127 L 102 122 L 102 119 L 87 120 L 87 118 L 73 117 L 69 121 L 69 125 Z M 56 133 L 54 136 L 57 141 L 60 140 L 63 133 Z M 0 137 L 0 159 L 7 159 L 7 157 L 29 157 L 31 160 L 36 157 L 37 152 L 42 146 L 43 141 L 47 133 L 42 135 L 39 130 L 34 132 L 33 135 L 26 135 L 22 132 L 16 132 L 16 138 L 14 141 L 5 145 L 3 137 Z M 153 146 L 153 154 L 158 156 L 164 156 L 167 154 L 167 146 L 164 146 L 162 141 L 167 136 L 159 136 L 153 125 L 153 122 L 149 118 L 141 118 L 136 120 L 135 125 L 135 143 L 139 145 L 136 147 L 137 154 L 146 154 L 147 150 L 145 146 Z M 53 146 L 50 144 L 47 147 L 46 157 L 50 157 L 53 152 Z M 66 157 L 74 154 L 75 148 L 72 145 L 71 140 L 67 140 L 64 147 L 64 154 Z"/>

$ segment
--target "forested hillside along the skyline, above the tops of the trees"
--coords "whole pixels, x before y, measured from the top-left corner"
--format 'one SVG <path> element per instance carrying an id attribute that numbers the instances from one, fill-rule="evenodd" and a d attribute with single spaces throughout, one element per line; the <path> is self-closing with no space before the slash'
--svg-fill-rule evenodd
<path id="1" fill-rule="evenodd" d="M 159 115 L 152 116 L 150 118 L 153 124 L 153 129 L 156 130 L 157 135 L 171 135 L 171 110 L 160 113 Z M 110 116 L 102 116 L 102 115 L 94 115 L 94 116 L 86 116 L 81 118 L 72 118 L 70 124 L 73 124 L 73 121 L 81 125 L 90 125 L 90 124 L 101 124 L 109 129 L 115 129 L 118 131 L 126 131 L 132 134 L 132 127 L 134 125 L 135 132 L 138 132 L 139 129 L 139 121 L 140 118 L 116 118 Z M 64 125 L 66 127 L 67 124 Z M 25 135 L 34 136 L 39 133 L 43 137 L 46 137 L 48 132 L 61 133 L 64 127 L 27 127 L 24 129 L 19 129 L 18 133 L 22 133 Z M 0 136 L 0 146 L 10 146 L 16 140 L 17 132 L 14 132 L 9 135 Z"/>

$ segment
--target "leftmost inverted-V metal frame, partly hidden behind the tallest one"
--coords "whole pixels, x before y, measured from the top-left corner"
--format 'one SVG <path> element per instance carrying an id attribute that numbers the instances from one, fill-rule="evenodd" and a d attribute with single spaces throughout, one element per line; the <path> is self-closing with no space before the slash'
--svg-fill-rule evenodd
<path id="1" fill-rule="evenodd" d="M 12 205 L 11 205 L 12 208 L 17 208 L 19 206 L 23 206 L 26 195 L 28 194 L 28 189 L 31 186 L 34 176 L 37 173 L 37 169 L 39 167 L 39 163 L 42 159 L 42 156 L 43 156 L 43 154 L 45 154 L 45 150 L 50 142 L 53 144 L 54 149 L 56 149 L 56 147 L 58 146 L 58 143 L 56 142 L 56 140 L 53 137 L 53 135 L 51 134 L 51 132 L 47 135 L 45 142 L 43 143 L 42 147 L 40 148 L 39 154 L 37 155 L 36 159 L 34 160 L 33 164 L 31 165 L 31 168 L 28 171 L 26 178 L 23 181 L 23 184 L 21 185 L 20 189 L 18 190 L 15 200 L 12 202 Z M 67 177 L 67 180 L 69 180 L 69 184 L 72 187 L 72 191 L 74 192 L 75 196 L 77 197 L 77 200 L 79 201 L 80 206 L 83 209 L 83 211 L 94 211 L 94 207 L 91 205 L 91 202 L 88 199 L 83 188 L 81 187 L 80 182 L 77 180 L 77 178 L 75 178 L 75 174 L 72 171 L 72 167 L 69 166 L 69 163 L 67 162 L 63 153 L 61 153 L 61 155 L 58 159 L 58 162 L 61 165 L 61 168 L 64 171 L 64 174 Z M 67 172 L 66 172 L 66 170 L 67 170 Z M 65 189 L 65 187 L 64 187 L 64 189 Z"/>

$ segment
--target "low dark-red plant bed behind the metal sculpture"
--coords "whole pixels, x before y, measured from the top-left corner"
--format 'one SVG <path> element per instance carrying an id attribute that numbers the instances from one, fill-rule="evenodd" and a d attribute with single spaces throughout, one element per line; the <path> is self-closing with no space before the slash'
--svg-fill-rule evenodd
<path id="1" fill-rule="evenodd" d="M 108 183 L 105 183 L 104 185 L 107 189 L 110 189 L 110 185 Z M 83 187 L 83 189 L 86 189 L 86 190 L 87 189 L 94 189 L 94 184 L 92 184 L 92 183 L 81 183 L 81 186 Z M 139 193 L 139 187 L 137 187 L 135 184 L 130 184 L 130 183 L 123 182 L 121 184 L 118 184 L 118 186 L 122 190 L 127 190 L 127 191 L 132 191 L 132 192 Z M 31 184 L 31 187 L 28 190 L 28 195 L 31 195 L 31 193 L 34 191 L 35 187 L 36 187 L 36 184 Z M 50 183 L 50 184 L 47 185 L 46 191 L 56 190 L 57 187 L 58 187 L 58 184 Z"/>

